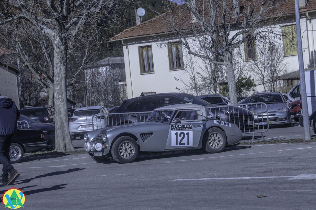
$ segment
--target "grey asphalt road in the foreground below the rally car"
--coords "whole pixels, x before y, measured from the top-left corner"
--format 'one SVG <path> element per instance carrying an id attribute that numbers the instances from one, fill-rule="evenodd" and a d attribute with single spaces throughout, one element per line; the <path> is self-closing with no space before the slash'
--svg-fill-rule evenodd
<path id="1" fill-rule="evenodd" d="M 88 154 L 14 164 L 25 209 L 315 209 L 316 143 L 227 147 L 96 163 Z M 7 186 L 0 186 L 0 193 Z M 1 204 L 3 206 L 3 204 Z M 4 207 L 4 206 L 3 206 Z"/>

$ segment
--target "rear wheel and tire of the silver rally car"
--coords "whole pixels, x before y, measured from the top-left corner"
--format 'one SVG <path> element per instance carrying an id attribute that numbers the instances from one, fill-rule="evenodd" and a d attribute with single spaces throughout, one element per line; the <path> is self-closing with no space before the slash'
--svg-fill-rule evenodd
<path id="1" fill-rule="evenodd" d="M 205 150 L 208 153 L 217 153 L 224 150 L 227 144 L 225 132 L 219 128 L 210 128 L 205 139 Z"/>

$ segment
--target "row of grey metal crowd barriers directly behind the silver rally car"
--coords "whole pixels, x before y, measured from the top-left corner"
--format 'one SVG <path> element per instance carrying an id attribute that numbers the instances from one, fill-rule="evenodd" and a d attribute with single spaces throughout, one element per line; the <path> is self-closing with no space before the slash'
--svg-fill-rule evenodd
<path id="1" fill-rule="evenodd" d="M 265 103 L 214 105 L 207 108 L 216 116 L 216 119 L 237 125 L 243 134 L 252 133 L 252 143 L 255 133 L 260 133 L 264 139 L 263 133 L 269 129 L 268 108 Z M 144 122 L 151 113 L 149 111 L 94 115 L 92 117 L 93 130 Z"/>

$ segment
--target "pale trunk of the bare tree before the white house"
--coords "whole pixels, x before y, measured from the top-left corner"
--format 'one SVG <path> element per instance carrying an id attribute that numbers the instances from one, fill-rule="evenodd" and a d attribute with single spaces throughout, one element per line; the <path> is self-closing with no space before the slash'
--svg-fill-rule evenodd
<path id="1" fill-rule="evenodd" d="M 227 74 L 229 100 L 231 105 L 237 104 L 236 81 L 233 64 L 233 56 L 231 52 L 224 52 L 224 65 Z"/>

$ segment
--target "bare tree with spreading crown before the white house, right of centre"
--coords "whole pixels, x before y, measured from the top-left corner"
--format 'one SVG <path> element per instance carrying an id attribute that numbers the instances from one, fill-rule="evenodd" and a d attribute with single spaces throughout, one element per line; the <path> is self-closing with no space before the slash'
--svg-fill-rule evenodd
<path id="1" fill-rule="evenodd" d="M 271 31 L 266 30 L 267 26 L 276 21 L 271 17 L 281 13 L 285 7 L 280 5 L 285 2 L 188 0 L 177 9 L 170 10 L 167 21 L 175 37 L 181 39 L 189 54 L 224 66 L 230 101 L 237 104 L 234 51 L 245 42 L 253 42 L 259 37 L 264 38 L 266 35 L 261 33 Z"/>

